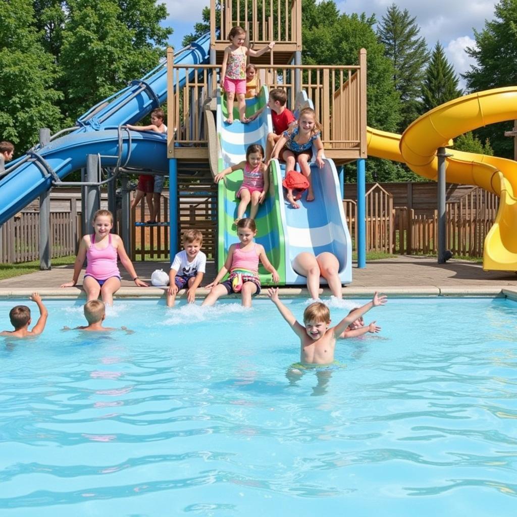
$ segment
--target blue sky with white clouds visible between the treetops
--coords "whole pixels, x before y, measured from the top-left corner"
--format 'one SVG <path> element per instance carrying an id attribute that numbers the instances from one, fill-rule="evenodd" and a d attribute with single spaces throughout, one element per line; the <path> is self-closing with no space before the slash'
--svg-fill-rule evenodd
<path id="1" fill-rule="evenodd" d="M 194 23 L 201 21 L 203 7 L 209 6 L 207 0 L 164 0 L 169 19 L 164 25 L 172 26 L 174 34 L 170 43 L 179 48 L 181 40 L 192 32 Z M 416 17 L 420 34 L 433 48 L 437 41 L 442 43 L 449 62 L 459 75 L 469 69 L 473 60 L 465 53 L 466 47 L 475 45 L 474 30 L 481 31 L 485 20 L 494 19 L 494 6 L 498 0 L 398 0 L 394 2 L 400 9 L 407 9 L 410 16 Z M 340 11 L 347 14 L 365 12 L 375 14 L 381 20 L 393 0 L 345 0 L 336 4 Z M 188 6 L 188 8 L 185 8 Z M 464 87 L 464 81 L 460 80 Z"/>

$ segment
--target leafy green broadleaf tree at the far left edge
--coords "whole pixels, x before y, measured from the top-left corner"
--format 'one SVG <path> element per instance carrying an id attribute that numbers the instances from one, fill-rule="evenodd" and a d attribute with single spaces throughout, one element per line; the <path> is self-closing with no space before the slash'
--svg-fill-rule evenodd
<path id="1" fill-rule="evenodd" d="M 0 2 L 0 19 L 0 139 L 23 151 L 38 142 L 40 128 L 58 129 L 62 95 L 53 87 L 57 69 L 34 27 L 32 2 Z"/>

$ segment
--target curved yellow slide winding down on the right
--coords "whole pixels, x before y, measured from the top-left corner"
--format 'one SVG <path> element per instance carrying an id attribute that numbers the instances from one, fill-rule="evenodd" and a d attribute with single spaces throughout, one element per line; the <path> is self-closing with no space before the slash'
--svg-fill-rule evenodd
<path id="1" fill-rule="evenodd" d="M 368 154 L 404 162 L 420 176 L 436 180 L 438 147 L 487 124 L 517 118 L 517 86 L 466 95 L 417 118 L 402 135 L 368 128 Z M 517 162 L 496 156 L 448 150 L 449 183 L 478 185 L 500 197 L 494 225 L 485 238 L 483 269 L 517 271 Z"/>

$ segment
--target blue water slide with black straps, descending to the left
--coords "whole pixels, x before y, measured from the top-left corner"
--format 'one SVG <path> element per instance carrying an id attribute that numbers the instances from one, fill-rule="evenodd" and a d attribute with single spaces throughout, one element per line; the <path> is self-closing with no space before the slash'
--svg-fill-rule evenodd
<path id="1" fill-rule="evenodd" d="M 206 63 L 209 43 L 209 35 L 202 36 L 176 55 L 174 62 Z M 178 81 L 175 86 L 185 83 L 185 72 Z M 50 189 L 53 181 L 84 167 L 88 154 L 100 154 L 103 166 L 121 163 L 167 172 L 165 136 L 113 129 L 141 120 L 165 101 L 166 94 L 167 73 L 163 62 L 139 81 L 133 81 L 90 109 L 79 118 L 77 129 L 43 147 L 35 146 L 13 161 L 0 180 L 0 224 Z"/>

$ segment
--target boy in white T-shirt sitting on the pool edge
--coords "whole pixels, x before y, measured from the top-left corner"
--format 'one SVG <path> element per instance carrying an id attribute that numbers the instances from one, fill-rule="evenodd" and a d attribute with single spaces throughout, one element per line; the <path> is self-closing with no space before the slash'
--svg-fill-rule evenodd
<path id="1" fill-rule="evenodd" d="M 201 251 L 202 244 L 203 234 L 199 230 L 187 230 L 183 234 L 184 249 L 176 253 L 169 271 L 167 307 L 174 307 L 176 294 L 186 286 L 187 301 L 195 301 L 195 290 L 200 286 L 206 271 L 206 255 Z"/>

